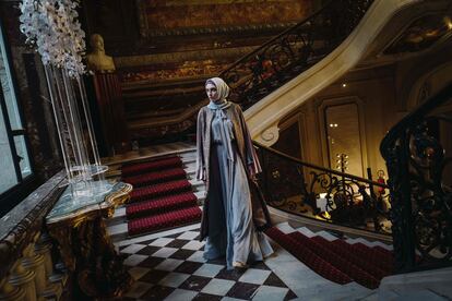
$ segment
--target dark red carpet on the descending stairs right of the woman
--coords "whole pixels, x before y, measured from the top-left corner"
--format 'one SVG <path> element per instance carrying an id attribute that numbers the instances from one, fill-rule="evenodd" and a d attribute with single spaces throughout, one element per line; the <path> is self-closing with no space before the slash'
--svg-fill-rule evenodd
<path id="1" fill-rule="evenodd" d="M 298 231 L 285 234 L 275 227 L 266 234 L 312 270 L 341 285 L 356 281 L 376 289 L 383 277 L 392 274 L 392 252 L 381 246 L 349 244 L 341 239 L 308 238 Z"/>

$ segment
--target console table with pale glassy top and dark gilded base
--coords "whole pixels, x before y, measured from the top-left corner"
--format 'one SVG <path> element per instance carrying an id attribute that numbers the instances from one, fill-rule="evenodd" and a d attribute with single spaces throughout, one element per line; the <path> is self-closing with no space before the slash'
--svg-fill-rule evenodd
<path id="1" fill-rule="evenodd" d="M 66 267 L 74 275 L 74 294 L 79 298 L 120 297 L 132 279 L 115 251 L 104 219 L 126 203 L 132 185 L 95 181 L 95 195 L 79 193 L 76 200 L 66 189 L 46 216 L 50 236 L 57 240 Z"/>

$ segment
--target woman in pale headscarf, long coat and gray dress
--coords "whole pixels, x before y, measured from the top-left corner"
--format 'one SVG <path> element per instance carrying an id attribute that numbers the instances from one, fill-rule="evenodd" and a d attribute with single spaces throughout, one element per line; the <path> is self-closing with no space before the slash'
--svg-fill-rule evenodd
<path id="1" fill-rule="evenodd" d="M 226 256 L 227 268 L 245 267 L 273 253 L 257 227 L 269 225 L 265 205 L 250 191 L 249 179 L 261 171 L 241 109 L 226 97 L 229 87 L 219 77 L 205 83 L 210 104 L 198 115 L 197 178 L 207 195 L 201 221 L 206 238 L 204 257 Z"/>

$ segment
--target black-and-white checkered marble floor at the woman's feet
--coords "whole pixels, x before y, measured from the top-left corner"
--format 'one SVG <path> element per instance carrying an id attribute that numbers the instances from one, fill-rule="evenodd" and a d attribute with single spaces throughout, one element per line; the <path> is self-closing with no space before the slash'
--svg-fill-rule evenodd
<path id="1" fill-rule="evenodd" d="M 118 242 L 134 278 L 123 300 L 292 300 L 295 292 L 263 262 L 227 270 L 205 261 L 199 225 Z M 179 229 L 179 230 L 180 230 Z M 277 248 L 277 245 L 275 245 Z"/>

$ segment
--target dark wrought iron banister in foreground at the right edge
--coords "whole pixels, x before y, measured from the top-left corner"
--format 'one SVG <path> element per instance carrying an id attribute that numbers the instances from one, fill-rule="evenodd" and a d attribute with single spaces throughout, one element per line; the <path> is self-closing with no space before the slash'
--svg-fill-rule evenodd
<path id="1" fill-rule="evenodd" d="M 451 116 L 452 84 L 395 124 L 380 145 L 399 272 L 452 265 Z"/>

